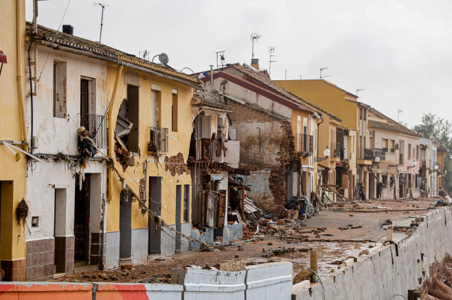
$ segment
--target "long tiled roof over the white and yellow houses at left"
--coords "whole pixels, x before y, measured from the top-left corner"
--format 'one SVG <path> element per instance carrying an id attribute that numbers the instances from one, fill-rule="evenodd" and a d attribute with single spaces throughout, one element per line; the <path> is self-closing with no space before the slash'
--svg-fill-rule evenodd
<path id="1" fill-rule="evenodd" d="M 26 23 L 28 36 L 31 36 L 31 26 L 32 26 L 31 22 Z M 183 81 L 188 82 L 190 84 L 195 85 L 202 84 L 201 80 L 194 78 L 190 75 L 186 75 L 181 72 L 175 71 L 172 68 L 161 66 L 159 64 L 149 62 L 148 60 L 144 60 L 142 58 L 137 58 L 135 55 L 114 49 L 107 45 L 103 45 L 100 42 L 87 40 L 85 38 L 80 38 L 72 34 L 65 34 L 64 32 L 58 32 L 54 29 L 49 29 L 41 25 L 38 25 L 38 32 L 33 36 L 33 39 L 51 42 L 52 44 L 55 45 L 93 53 L 96 56 L 96 58 L 104 60 L 109 61 L 116 60 L 117 62 L 126 62 L 129 64 L 134 64 L 135 66 L 147 68 L 150 71 L 161 73 L 162 75 L 168 75 L 170 77 L 182 79 Z M 64 48 L 59 50 L 65 51 Z"/>

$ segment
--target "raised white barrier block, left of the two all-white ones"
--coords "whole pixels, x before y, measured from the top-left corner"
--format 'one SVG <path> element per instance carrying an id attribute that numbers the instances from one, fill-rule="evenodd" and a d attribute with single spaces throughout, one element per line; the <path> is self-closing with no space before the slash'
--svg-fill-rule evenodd
<path id="1" fill-rule="evenodd" d="M 219 271 L 201 268 L 172 270 L 172 277 L 185 288 L 184 300 L 240 300 L 245 299 L 245 276 L 247 271 Z"/>

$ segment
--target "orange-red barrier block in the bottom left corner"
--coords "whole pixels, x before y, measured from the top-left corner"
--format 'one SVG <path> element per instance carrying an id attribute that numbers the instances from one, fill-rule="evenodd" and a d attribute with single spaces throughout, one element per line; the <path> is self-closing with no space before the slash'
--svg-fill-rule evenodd
<path id="1" fill-rule="evenodd" d="M 63 282 L 0 282 L 1 299 L 91 300 L 91 284 Z"/>

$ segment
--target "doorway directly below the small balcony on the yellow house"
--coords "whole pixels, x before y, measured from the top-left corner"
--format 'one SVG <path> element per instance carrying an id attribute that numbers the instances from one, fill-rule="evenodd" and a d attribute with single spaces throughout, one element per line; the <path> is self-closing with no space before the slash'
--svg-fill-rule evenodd
<path id="1" fill-rule="evenodd" d="M 149 204 L 150 210 L 161 216 L 161 177 L 149 177 Z M 149 216 L 148 253 L 161 253 L 161 229 Z"/>

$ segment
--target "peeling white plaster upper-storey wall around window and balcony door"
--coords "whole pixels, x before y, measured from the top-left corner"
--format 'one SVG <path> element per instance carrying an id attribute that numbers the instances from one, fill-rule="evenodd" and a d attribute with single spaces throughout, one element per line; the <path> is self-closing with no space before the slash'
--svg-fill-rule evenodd
<path id="1" fill-rule="evenodd" d="M 46 59 L 47 63 L 46 63 Z M 54 61 L 66 62 L 66 107 L 67 117 L 54 117 Z M 34 153 L 63 152 L 68 155 L 77 155 L 77 129 L 80 126 L 80 78 L 95 79 L 95 111 L 91 113 L 103 115 L 106 110 L 106 63 L 93 58 L 86 58 L 48 47 L 38 46 L 38 60 L 36 69 L 41 77 L 37 83 L 36 95 L 33 97 L 33 136 L 38 137 L 38 148 Z M 41 70 L 43 71 L 41 75 Z M 27 136 L 31 130 L 30 84 L 27 84 L 25 95 L 27 98 Z"/>

